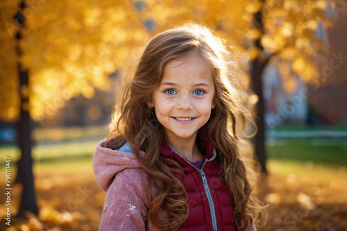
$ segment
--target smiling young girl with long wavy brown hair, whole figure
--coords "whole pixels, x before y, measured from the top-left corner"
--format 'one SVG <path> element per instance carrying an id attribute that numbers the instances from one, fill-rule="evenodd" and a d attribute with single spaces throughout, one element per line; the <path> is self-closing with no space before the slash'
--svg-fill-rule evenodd
<path id="1" fill-rule="evenodd" d="M 254 122 L 237 72 L 202 26 L 151 39 L 94 154 L 107 190 L 99 230 L 255 230 L 264 210 L 244 135 Z"/>

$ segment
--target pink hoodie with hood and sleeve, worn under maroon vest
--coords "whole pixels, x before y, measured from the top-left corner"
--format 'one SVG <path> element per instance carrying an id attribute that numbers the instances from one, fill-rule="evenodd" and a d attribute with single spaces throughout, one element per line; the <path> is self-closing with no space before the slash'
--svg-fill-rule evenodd
<path id="1" fill-rule="evenodd" d="M 107 191 L 99 230 L 158 230 L 147 219 L 146 174 L 128 145 L 115 151 L 101 141 L 93 168 L 99 187 Z M 254 225 L 248 231 L 255 231 Z"/>

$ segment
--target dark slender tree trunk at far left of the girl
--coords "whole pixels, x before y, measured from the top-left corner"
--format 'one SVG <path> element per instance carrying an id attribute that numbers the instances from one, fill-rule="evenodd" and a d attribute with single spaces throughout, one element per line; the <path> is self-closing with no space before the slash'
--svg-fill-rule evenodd
<path id="1" fill-rule="evenodd" d="M 19 5 L 22 10 L 25 8 L 24 2 L 22 1 Z M 17 24 L 21 27 L 25 25 L 25 19 L 21 12 L 17 12 L 15 15 Z M 20 57 L 22 50 L 19 46 L 19 41 L 22 39 L 22 35 L 19 32 L 16 35 L 17 39 L 17 54 Z M 21 202 L 17 216 L 22 216 L 24 211 L 31 211 L 34 214 L 38 214 L 35 188 L 34 188 L 34 177 L 33 177 L 33 158 L 31 158 L 31 127 L 30 127 L 30 115 L 28 111 L 28 71 L 24 70 L 20 62 L 18 63 L 19 73 L 19 95 L 21 98 L 20 118 L 17 122 L 17 140 L 19 147 L 22 151 L 22 157 L 17 165 L 17 180 L 16 182 L 22 183 L 23 190 L 21 196 Z"/>

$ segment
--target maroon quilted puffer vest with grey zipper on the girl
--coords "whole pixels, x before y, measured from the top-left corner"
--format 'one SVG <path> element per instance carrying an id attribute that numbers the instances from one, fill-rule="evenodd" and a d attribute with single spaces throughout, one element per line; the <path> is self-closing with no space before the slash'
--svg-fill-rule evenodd
<path id="1" fill-rule="evenodd" d="M 189 215 L 178 230 L 235 231 L 232 196 L 221 177 L 223 169 L 215 160 L 216 151 L 205 140 L 200 140 L 199 146 L 202 153 L 205 152 L 202 169 L 191 165 L 186 158 L 171 149 L 167 142 L 160 145 L 162 156 L 176 160 L 185 172 L 185 178 L 179 179 L 186 185 Z"/>

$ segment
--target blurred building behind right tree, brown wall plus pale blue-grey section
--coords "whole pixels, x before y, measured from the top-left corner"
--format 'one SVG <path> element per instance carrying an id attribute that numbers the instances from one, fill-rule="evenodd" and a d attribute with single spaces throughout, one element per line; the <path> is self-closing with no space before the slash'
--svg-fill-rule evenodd
<path id="1" fill-rule="evenodd" d="M 283 89 L 278 63 L 266 66 L 263 81 L 269 128 L 293 123 L 347 124 L 347 2 L 342 3 L 328 8 L 332 27 L 320 24 L 316 32 L 323 44 L 323 52 L 314 56 L 319 82 L 306 84 L 295 77 L 297 87 L 288 93 Z"/>

